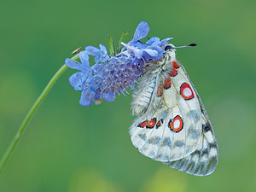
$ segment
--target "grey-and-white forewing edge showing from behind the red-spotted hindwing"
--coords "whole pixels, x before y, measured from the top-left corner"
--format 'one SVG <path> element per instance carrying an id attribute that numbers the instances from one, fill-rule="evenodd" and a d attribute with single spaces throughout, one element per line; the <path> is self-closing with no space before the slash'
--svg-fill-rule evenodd
<path id="1" fill-rule="evenodd" d="M 184 69 L 183 65 L 179 62 L 178 65 L 180 66 L 180 69 L 177 69 L 178 73 L 185 75 L 195 90 L 194 84 L 189 79 L 189 75 Z M 183 159 L 170 161 L 165 164 L 174 169 L 187 172 L 192 175 L 207 176 L 214 172 L 216 166 L 218 165 L 218 143 L 212 129 L 211 121 L 196 90 L 195 94 L 197 95 L 201 106 L 203 135 L 201 137 L 199 146 L 195 152 L 189 154 Z"/>

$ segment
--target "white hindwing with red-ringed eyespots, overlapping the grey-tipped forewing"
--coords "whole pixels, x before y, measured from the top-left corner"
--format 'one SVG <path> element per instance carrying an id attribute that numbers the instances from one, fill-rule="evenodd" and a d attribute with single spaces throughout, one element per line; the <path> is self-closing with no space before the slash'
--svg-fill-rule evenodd
<path id="1" fill-rule="evenodd" d="M 179 93 L 183 84 L 189 86 L 189 81 L 179 73 L 167 77 L 163 83 L 160 74 L 152 79 L 149 75 L 143 78 L 147 79 L 142 79 L 143 90 L 140 91 L 139 87 L 135 96 L 142 101 L 134 105 L 147 105 L 145 112 L 131 125 L 132 143 L 145 156 L 162 162 L 179 160 L 191 154 L 202 133 L 197 96 L 185 100 Z M 189 88 L 194 91 L 192 86 Z"/>

